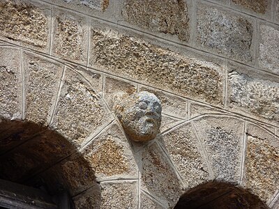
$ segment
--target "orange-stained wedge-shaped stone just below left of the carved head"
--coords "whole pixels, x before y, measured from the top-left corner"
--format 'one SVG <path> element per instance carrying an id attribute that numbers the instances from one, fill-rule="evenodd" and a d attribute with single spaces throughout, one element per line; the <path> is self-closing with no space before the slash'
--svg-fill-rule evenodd
<path id="1" fill-rule="evenodd" d="M 107 127 L 83 153 L 98 179 L 137 178 L 137 164 L 130 145 L 116 124 Z"/>

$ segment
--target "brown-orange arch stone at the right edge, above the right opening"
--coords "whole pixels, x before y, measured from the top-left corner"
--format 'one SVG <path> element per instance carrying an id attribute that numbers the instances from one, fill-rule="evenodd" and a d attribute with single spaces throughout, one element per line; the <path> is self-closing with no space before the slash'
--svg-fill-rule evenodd
<path id="1" fill-rule="evenodd" d="M 247 127 L 245 186 L 264 202 L 271 200 L 279 185 L 278 140 L 258 126 Z"/>

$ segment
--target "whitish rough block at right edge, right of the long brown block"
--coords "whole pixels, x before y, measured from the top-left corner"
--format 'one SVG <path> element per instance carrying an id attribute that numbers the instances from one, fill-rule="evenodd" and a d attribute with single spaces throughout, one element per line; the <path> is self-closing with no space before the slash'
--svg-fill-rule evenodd
<path id="1" fill-rule="evenodd" d="M 228 104 L 232 111 L 239 109 L 248 116 L 278 123 L 278 83 L 234 71 L 229 73 L 228 95 Z"/>

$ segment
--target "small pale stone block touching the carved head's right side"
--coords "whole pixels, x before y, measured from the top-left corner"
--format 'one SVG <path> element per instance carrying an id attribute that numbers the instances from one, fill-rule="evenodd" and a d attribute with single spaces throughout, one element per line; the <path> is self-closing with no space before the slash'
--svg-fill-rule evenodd
<path id="1" fill-rule="evenodd" d="M 178 118 L 187 119 L 188 118 L 188 101 L 179 98 L 176 95 L 171 95 L 164 93 L 163 91 L 156 91 L 151 88 L 146 88 L 144 86 L 140 87 L 140 91 L 149 91 L 156 95 L 162 103 L 163 114 L 168 114 L 170 116 L 175 116 Z"/>

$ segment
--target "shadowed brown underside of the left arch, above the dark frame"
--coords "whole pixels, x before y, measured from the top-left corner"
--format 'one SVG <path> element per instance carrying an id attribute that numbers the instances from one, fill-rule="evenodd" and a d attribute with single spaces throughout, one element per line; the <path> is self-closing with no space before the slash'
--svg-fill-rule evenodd
<path id="1" fill-rule="evenodd" d="M 30 122 L 1 121 L 0 180 L 35 187 L 50 196 L 68 193 L 73 198 L 89 188 L 100 192 L 95 171 L 73 144 Z"/>

